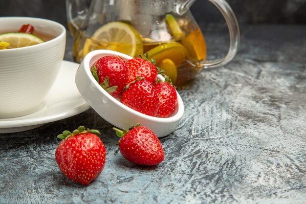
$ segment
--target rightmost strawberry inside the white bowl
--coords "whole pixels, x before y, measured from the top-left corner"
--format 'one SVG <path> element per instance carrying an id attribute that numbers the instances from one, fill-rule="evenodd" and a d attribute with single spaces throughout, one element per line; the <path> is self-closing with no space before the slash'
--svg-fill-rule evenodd
<path id="1" fill-rule="evenodd" d="M 159 109 L 156 116 L 169 117 L 175 111 L 177 106 L 177 94 L 175 88 L 166 82 L 157 83 L 154 87 L 159 99 Z"/>

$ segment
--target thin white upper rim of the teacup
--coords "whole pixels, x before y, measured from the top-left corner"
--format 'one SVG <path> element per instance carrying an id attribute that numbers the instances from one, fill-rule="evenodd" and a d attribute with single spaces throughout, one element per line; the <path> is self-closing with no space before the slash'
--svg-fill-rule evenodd
<path id="1" fill-rule="evenodd" d="M 17 51 L 17 50 L 27 50 L 27 49 L 31 49 L 33 47 L 49 45 L 49 44 L 52 44 L 54 41 L 57 41 L 58 39 L 65 37 L 65 35 L 66 35 L 66 28 L 65 28 L 64 25 L 62 25 L 61 23 L 49 20 L 49 19 L 36 18 L 36 17 L 17 17 L 17 16 L 14 16 L 14 17 L 10 17 L 10 16 L 0 17 L 0 21 L 1 21 L 1 19 L 32 19 L 32 20 L 35 19 L 35 20 L 42 21 L 42 22 L 44 21 L 44 22 L 54 23 L 61 28 L 61 33 L 59 35 L 57 35 L 55 38 L 53 38 L 49 41 L 45 41 L 44 43 L 40 43 L 40 44 L 37 44 L 37 45 L 26 46 L 26 47 L 18 47 L 18 48 L 13 48 L 13 49 L 0 49 L 0 52 L 8 53 L 8 52 L 13 52 L 13 51 Z"/>

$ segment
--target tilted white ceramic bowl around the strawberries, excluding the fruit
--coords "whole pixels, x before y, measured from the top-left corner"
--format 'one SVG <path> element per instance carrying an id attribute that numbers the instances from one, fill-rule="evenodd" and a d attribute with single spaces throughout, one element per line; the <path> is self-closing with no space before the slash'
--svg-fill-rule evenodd
<path id="1" fill-rule="evenodd" d="M 179 94 L 177 93 L 177 108 L 171 117 L 159 118 L 134 111 L 102 89 L 90 72 L 91 65 L 99 58 L 107 55 L 121 56 L 125 60 L 132 58 L 110 50 L 89 52 L 81 62 L 75 76 L 76 86 L 87 103 L 101 117 L 118 128 L 127 130 L 131 125 L 140 123 L 141 126 L 150 128 L 158 137 L 172 133 L 184 113 L 184 104 Z M 164 80 L 162 76 L 159 75 L 158 77 Z"/>

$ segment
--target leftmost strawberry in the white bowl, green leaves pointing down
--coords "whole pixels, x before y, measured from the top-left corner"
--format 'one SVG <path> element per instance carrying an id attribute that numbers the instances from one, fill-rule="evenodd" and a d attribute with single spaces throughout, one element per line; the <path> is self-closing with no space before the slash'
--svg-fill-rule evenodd
<path id="1" fill-rule="evenodd" d="M 119 98 L 128 84 L 128 68 L 119 56 L 105 56 L 98 59 L 90 68 L 92 75 L 103 89 Z"/>

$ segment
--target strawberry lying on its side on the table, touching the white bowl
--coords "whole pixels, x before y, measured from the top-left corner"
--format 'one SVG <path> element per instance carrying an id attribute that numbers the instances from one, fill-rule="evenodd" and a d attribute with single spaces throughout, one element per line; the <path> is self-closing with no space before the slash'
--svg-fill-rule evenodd
<path id="1" fill-rule="evenodd" d="M 157 136 L 146 127 L 137 124 L 128 132 L 126 130 L 116 131 L 120 136 L 119 150 L 123 157 L 140 165 L 156 165 L 164 160 L 164 150 Z"/>

